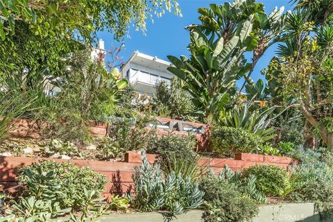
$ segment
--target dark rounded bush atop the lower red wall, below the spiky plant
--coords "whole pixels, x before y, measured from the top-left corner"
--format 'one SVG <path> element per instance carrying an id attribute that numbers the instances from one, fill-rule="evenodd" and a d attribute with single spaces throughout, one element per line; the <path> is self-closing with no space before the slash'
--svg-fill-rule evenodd
<path id="1" fill-rule="evenodd" d="M 242 128 L 223 126 L 212 131 L 212 146 L 215 151 L 225 155 L 234 153 L 255 153 L 262 144 L 257 135 L 248 133 Z"/>

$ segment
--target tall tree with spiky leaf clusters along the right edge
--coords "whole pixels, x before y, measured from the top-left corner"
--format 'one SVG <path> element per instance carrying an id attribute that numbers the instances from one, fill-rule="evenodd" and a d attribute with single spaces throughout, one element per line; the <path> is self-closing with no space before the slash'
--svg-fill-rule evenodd
<path id="1" fill-rule="evenodd" d="M 305 119 L 333 148 L 333 1 L 295 1 L 287 40 L 279 46 L 282 93 L 293 96 Z"/>

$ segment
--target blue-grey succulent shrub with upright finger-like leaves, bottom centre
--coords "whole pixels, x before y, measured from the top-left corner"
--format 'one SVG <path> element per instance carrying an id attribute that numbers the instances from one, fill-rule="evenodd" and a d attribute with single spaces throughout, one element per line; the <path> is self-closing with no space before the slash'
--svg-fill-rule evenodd
<path id="1" fill-rule="evenodd" d="M 204 194 L 198 189 L 198 182 L 176 176 L 174 172 L 164 175 L 160 164 L 151 166 L 144 152 L 142 167 L 135 167 L 133 182 L 135 197 L 130 196 L 130 199 L 139 211 L 168 210 L 175 216 L 196 209 L 203 202 Z"/>

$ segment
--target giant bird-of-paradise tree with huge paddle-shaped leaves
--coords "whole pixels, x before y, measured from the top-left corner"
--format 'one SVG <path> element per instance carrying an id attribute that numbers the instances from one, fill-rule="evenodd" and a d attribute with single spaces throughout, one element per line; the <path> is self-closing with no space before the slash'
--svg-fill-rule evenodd
<path id="1" fill-rule="evenodd" d="M 169 71 L 185 81 L 198 112 L 209 121 L 236 92 L 237 79 L 248 77 L 250 81 L 257 60 L 280 31 L 282 11 L 275 9 L 266 15 L 264 5 L 255 0 L 198 9 L 200 24 L 187 27 L 191 33 L 191 58 L 169 56 L 176 66 L 169 67 Z M 244 58 L 246 51 L 253 51 L 252 62 Z"/>

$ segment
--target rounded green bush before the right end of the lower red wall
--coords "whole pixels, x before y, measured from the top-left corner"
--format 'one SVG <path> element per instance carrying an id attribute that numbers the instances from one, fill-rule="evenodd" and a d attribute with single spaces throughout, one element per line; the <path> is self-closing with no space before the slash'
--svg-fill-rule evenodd
<path id="1" fill-rule="evenodd" d="M 243 178 L 248 178 L 254 175 L 255 185 L 259 191 L 264 194 L 283 196 L 284 193 L 290 188 L 289 175 L 287 171 L 280 167 L 272 165 L 255 165 L 242 172 Z"/>

